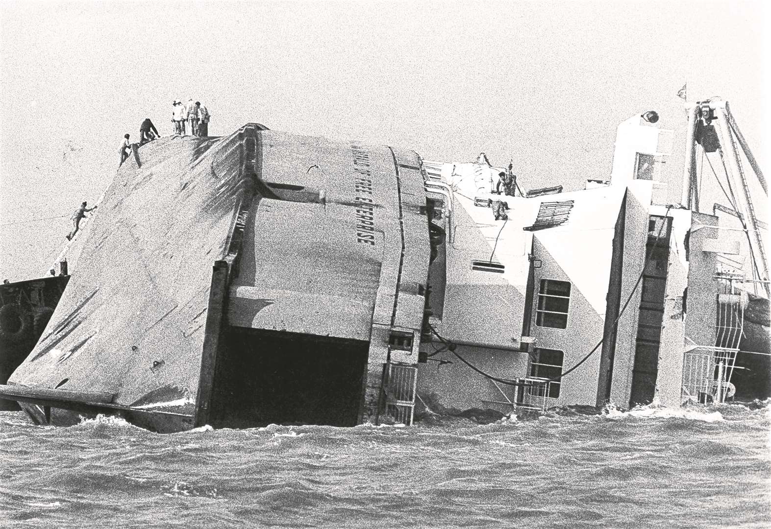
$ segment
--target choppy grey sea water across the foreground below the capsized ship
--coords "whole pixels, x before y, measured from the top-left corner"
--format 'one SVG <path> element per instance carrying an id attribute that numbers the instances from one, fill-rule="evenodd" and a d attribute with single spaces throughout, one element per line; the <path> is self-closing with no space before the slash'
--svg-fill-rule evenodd
<path id="1" fill-rule="evenodd" d="M 0 413 L 0 527 L 771 527 L 769 407 L 153 434 Z"/>

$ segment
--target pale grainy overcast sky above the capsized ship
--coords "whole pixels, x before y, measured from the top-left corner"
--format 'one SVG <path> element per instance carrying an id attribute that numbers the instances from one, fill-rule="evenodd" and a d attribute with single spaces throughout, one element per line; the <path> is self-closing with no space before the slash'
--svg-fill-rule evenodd
<path id="1" fill-rule="evenodd" d="M 530 188 L 580 189 L 633 113 L 682 130 L 687 81 L 731 102 L 767 168 L 768 22 L 763 2 L 2 2 L 0 277 L 45 273 L 123 134 L 170 133 L 173 99 L 204 102 L 212 135 L 483 151 Z"/>

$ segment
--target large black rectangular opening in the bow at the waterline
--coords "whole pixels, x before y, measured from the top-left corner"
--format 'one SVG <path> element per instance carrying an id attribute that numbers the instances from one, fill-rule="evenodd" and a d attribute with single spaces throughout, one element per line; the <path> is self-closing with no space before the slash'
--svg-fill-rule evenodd
<path id="1" fill-rule="evenodd" d="M 369 342 L 231 327 L 222 351 L 212 426 L 359 424 Z"/>

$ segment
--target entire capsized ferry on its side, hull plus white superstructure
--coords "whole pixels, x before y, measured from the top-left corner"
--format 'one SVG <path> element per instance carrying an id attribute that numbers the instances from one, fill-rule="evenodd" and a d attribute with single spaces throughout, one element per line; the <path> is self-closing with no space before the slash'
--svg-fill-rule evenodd
<path id="1" fill-rule="evenodd" d="M 523 192 L 484 155 L 254 124 L 151 142 L 73 242 L 69 286 L 0 397 L 39 424 L 113 413 L 175 431 L 749 394 L 732 373 L 761 370 L 744 356 L 765 358 L 768 300 L 749 293 L 769 284 L 754 256 L 768 266 L 730 222 L 765 228 L 741 172 L 730 219 L 674 202 L 656 122 L 622 122 L 611 179 L 566 193 Z"/>

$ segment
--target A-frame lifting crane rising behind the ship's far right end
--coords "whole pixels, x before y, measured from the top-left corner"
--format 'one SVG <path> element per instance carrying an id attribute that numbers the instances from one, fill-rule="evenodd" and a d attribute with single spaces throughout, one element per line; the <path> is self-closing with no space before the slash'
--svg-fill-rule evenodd
<path id="1" fill-rule="evenodd" d="M 742 223 L 749 242 L 752 260 L 752 275 L 763 285 L 766 296 L 769 290 L 769 264 L 766 249 L 763 246 L 761 221 L 757 218 L 756 208 L 752 203 L 746 172 L 742 166 L 737 143 L 741 146 L 752 172 L 768 196 L 768 186 L 763 172 L 746 139 L 742 135 L 736 119 L 731 113 L 729 102 L 715 97 L 696 102 L 688 107 L 689 126 L 685 142 L 685 171 L 683 172 L 682 204 L 689 209 L 699 209 L 699 183 L 695 174 L 695 143 L 699 143 L 705 152 L 718 152 L 728 178 L 729 199 L 736 210 L 736 216 Z M 715 122 L 715 125 L 712 125 Z M 726 153 L 726 150 L 729 151 Z"/>

